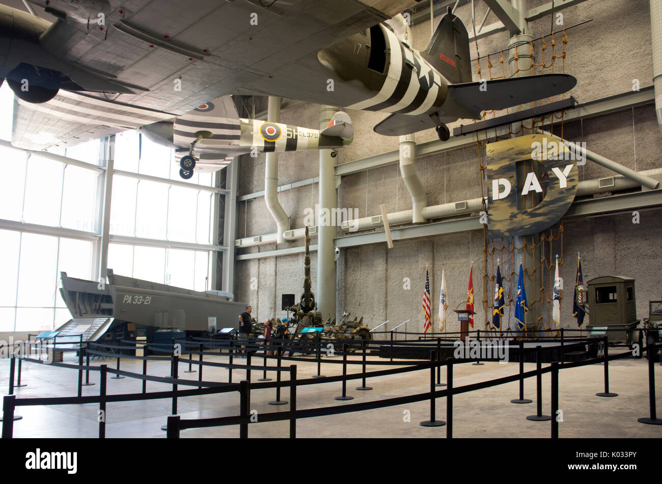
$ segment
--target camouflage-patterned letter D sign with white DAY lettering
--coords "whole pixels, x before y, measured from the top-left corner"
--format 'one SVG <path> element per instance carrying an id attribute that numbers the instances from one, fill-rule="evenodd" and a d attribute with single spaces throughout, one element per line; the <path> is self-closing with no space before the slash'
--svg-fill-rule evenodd
<path id="1" fill-rule="evenodd" d="M 534 161 L 532 147 L 544 146 Z M 553 156 L 547 156 L 552 152 Z M 577 165 L 562 141 L 542 134 L 519 136 L 489 143 L 486 147 L 489 193 L 488 237 L 512 237 L 538 233 L 558 222 L 575 200 Z M 518 162 L 523 162 L 524 178 L 518 179 Z M 534 167 L 542 163 L 548 181 L 547 192 L 536 206 L 532 193 L 543 193 Z M 520 172 L 520 175 L 522 173 Z M 520 204 L 518 206 L 518 197 Z"/>

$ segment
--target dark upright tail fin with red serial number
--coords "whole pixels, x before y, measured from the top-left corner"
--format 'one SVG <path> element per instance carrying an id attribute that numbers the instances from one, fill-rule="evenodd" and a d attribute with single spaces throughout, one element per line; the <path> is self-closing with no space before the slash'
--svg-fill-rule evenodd
<path id="1" fill-rule="evenodd" d="M 448 9 L 440 20 L 423 58 L 430 62 L 451 84 L 471 82 L 469 34 L 462 20 Z"/>

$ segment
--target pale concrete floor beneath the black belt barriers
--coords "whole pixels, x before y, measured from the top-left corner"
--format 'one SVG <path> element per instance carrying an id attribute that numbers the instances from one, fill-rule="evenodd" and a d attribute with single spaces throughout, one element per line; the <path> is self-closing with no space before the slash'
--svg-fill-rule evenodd
<path id="1" fill-rule="evenodd" d="M 205 358 L 207 360 L 207 357 Z M 212 356 L 212 361 L 226 362 L 226 356 Z M 73 354 L 65 356 L 65 362 L 75 363 Z M 237 360 L 236 360 L 237 361 Z M 244 364 L 246 360 L 238 360 Z M 262 359 L 254 359 L 254 364 L 261 364 Z M 109 367 L 114 367 L 115 360 L 105 360 Z M 309 378 L 316 374 L 316 364 L 296 362 L 299 378 Z M 99 360 L 94 365 L 102 364 Z M 272 364 L 272 362 L 269 362 Z M 275 362 L 273 363 L 275 364 Z M 289 364 L 284 362 L 283 364 Z M 396 366 L 368 366 L 367 370 L 384 370 Z M 122 370 L 142 372 L 142 362 L 124 359 Z M 195 366 L 193 367 L 195 369 Z M 350 367 L 352 368 L 352 367 Z M 355 366 L 357 370 L 360 366 Z M 197 373 L 183 373 L 185 366 L 180 366 L 181 378 L 197 379 Z M 524 370 L 535 369 L 535 364 L 525 364 Z M 355 370 L 348 370 L 353 372 Z M 151 375 L 167 376 L 169 363 L 149 362 Z M 322 363 L 322 374 L 330 376 L 340 374 L 342 366 Z M 516 374 L 517 363 L 499 364 L 487 362 L 483 366 L 459 364 L 454 367 L 455 386 L 492 380 L 502 376 Z M 234 370 L 233 381 L 244 378 L 245 370 Z M 638 417 L 647 417 L 648 375 L 647 360 L 625 358 L 610 362 L 610 391 L 618 397 L 597 397 L 595 393 L 603 391 L 604 368 L 601 365 L 584 366 L 562 370 L 559 378 L 559 408 L 563 411 L 563 422 L 559 424 L 559 436 L 578 438 L 641 438 L 662 437 L 662 426 L 645 425 L 637 422 Z M 204 379 L 226 382 L 228 371 L 220 368 L 205 367 Z M 272 376 L 269 374 L 268 376 Z M 442 372 L 442 382 L 445 381 Z M 6 395 L 9 378 L 9 360 L 0 360 L 0 389 Z M 96 385 L 83 387 L 83 395 L 98 395 L 98 374 L 90 375 Z M 261 372 L 252 372 L 253 380 L 261 378 Z M 655 364 L 658 417 L 662 414 L 662 367 Z M 525 396 L 535 400 L 535 379 L 525 383 Z M 297 389 L 299 409 L 346 405 L 360 401 L 371 401 L 389 397 L 412 395 L 428 391 L 430 385 L 429 370 L 370 378 L 371 391 L 356 391 L 360 380 L 348 382 L 348 395 L 354 400 L 337 401 L 334 397 L 341 393 L 341 383 L 307 385 Z M 550 376 L 545 374 L 543 382 L 543 413 L 549 415 Z M 23 365 L 23 383 L 28 386 L 15 389 L 18 397 L 64 397 L 76 395 L 77 372 L 67 368 L 42 366 L 33 363 Z M 108 393 L 133 393 L 141 391 L 142 382 L 124 378 L 108 380 Z M 181 388 L 181 387 L 180 387 Z M 148 382 L 148 391 L 171 389 L 171 385 Z M 282 411 L 289 405 L 272 406 L 267 401 L 273 400 L 275 389 L 252 391 L 251 409 L 260 413 Z M 287 399 L 289 389 L 283 389 L 283 399 Z M 518 383 L 508 383 L 453 397 L 453 437 L 509 438 L 540 437 L 549 438 L 549 422 L 526 420 L 527 415 L 536 413 L 536 403 L 514 405 L 510 399 L 518 396 Z M 238 393 L 222 393 L 203 397 L 179 399 L 179 415 L 185 419 L 204 417 L 225 417 L 238 415 Z M 17 438 L 95 438 L 98 436 L 97 404 L 89 405 L 54 405 L 20 407 L 17 414 L 23 419 L 15 422 L 14 436 Z M 446 427 L 422 427 L 418 423 L 429 419 L 429 401 L 387 407 L 370 411 L 346 413 L 329 417 L 315 417 L 297 421 L 297 436 L 305 437 L 352 437 L 352 438 L 393 438 L 393 437 L 446 437 Z M 164 438 L 165 432 L 160 427 L 166 423 L 171 411 L 171 400 L 132 401 L 109 403 L 107 405 L 106 435 L 109 438 Z M 438 399 L 437 419 L 446 419 L 446 399 Z M 405 415 L 410 415 L 406 421 Z M 258 423 L 248 428 L 249 437 L 287 437 L 289 423 Z M 238 426 L 200 428 L 183 430 L 182 438 L 229 437 L 239 435 Z"/>

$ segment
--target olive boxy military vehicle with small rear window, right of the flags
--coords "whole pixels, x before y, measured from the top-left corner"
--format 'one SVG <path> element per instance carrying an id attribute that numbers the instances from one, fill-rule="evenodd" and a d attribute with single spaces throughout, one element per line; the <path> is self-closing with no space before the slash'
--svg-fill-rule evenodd
<path id="1" fill-rule="evenodd" d="M 587 282 L 591 336 L 607 337 L 610 345 L 643 348 L 643 333 L 638 328 L 634 279 L 625 276 L 600 276 Z"/>

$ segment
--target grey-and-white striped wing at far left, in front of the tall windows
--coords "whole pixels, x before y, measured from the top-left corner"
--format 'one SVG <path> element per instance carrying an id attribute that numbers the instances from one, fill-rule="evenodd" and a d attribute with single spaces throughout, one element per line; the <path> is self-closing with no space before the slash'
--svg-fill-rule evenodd
<path id="1" fill-rule="evenodd" d="M 67 147 L 174 117 L 170 112 L 62 89 L 42 104 L 15 98 L 11 142 L 16 147 L 36 151 L 52 146 Z"/>

